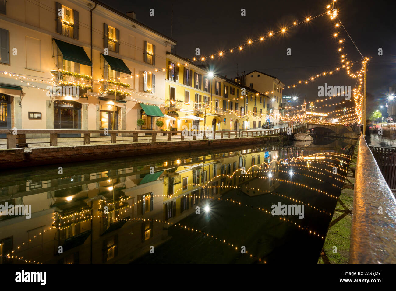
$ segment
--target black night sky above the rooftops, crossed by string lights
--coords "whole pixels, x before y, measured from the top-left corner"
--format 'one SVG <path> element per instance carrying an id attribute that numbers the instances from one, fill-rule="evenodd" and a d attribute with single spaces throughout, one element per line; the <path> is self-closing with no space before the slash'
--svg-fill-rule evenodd
<path id="1" fill-rule="evenodd" d="M 173 3 L 172 38 L 177 41 L 173 52 L 190 59 L 195 56 L 196 48 L 200 48 L 201 56 L 219 53 L 289 27 L 293 21 L 326 12 L 326 6 L 331 4 L 331 0 L 102 2 L 121 12 L 135 11 L 138 21 L 169 37 Z M 337 0 L 335 7 L 339 8 L 339 18 L 362 55 L 372 58 L 367 70 L 368 106 L 385 105 L 388 87 L 396 85 L 396 1 Z M 149 16 L 150 8 L 154 8 L 154 16 Z M 246 9 L 246 16 L 241 16 L 242 8 Z M 333 38 L 337 31 L 345 39 L 343 51 L 347 58 L 362 59 L 345 30 L 337 29 L 326 14 L 210 63 L 215 72 L 228 78 L 234 78 L 237 71 L 259 70 L 278 77 L 287 86 L 340 65 L 339 45 Z M 291 48 L 291 56 L 286 55 L 287 48 Z M 382 56 L 378 55 L 379 48 L 383 49 Z M 353 71 L 360 69 L 360 64 L 356 63 Z M 286 89 L 284 94 L 295 95 L 300 102 L 305 95 L 307 102 L 316 100 L 318 86 L 324 83 L 350 85 L 353 89 L 356 79 L 347 76 L 344 70 L 308 85 Z"/>

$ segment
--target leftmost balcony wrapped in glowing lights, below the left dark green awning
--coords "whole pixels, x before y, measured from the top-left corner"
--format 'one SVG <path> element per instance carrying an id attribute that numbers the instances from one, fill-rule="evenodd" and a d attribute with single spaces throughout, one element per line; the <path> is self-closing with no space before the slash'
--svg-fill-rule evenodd
<path id="1" fill-rule="evenodd" d="M 51 74 L 54 86 L 75 86 L 80 94 L 92 89 L 91 76 L 64 70 L 52 70 Z"/>

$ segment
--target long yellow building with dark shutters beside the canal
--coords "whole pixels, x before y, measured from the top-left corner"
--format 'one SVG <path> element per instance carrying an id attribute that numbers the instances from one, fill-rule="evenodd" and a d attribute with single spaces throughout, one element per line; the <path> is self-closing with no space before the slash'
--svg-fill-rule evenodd
<path id="1" fill-rule="evenodd" d="M 214 74 L 208 65 L 195 65 L 167 53 L 165 129 L 201 126 L 220 130 L 261 128 L 269 97 Z"/>

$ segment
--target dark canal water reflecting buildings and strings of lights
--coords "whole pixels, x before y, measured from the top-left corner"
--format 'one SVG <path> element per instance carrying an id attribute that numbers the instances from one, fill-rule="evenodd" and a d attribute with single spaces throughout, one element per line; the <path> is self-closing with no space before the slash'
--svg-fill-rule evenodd
<path id="1" fill-rule="evenodd" d="M 32 213 L 0 216 L 0 260 L 314 264 L 351 152 L 318 139 L 3 171 L 0 205 Z"/>

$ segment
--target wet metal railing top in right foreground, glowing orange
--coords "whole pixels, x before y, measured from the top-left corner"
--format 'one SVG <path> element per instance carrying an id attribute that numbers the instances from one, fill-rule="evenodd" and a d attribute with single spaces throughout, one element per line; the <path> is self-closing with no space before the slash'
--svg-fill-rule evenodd
<path id="1" fill-rule="evenodd" d="M 396 263 L 396 200 L 363 135 L 356 164 L 349 261 Z"/>

